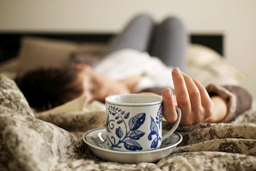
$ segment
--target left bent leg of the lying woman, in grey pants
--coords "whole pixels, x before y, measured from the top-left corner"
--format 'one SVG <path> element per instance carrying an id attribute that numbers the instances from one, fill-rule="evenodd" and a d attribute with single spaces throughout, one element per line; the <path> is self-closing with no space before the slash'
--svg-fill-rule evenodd
<path id="1" fill-rule="evenodd" d="M 110 40 L 103 56 L 124 48 L 147 51 L 153 27 L 151 16 L 146 14 L 136 16 L 120 34 Z"/>

